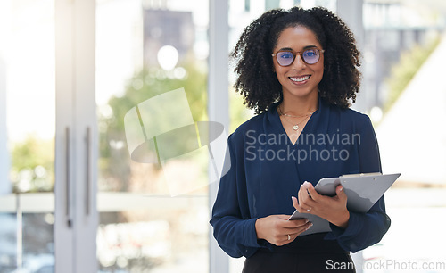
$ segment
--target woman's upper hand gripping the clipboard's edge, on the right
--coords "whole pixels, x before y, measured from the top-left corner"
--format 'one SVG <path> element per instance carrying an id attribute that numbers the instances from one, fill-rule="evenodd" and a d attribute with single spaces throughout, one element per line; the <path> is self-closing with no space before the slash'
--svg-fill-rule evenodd
<path id="1" fill-rule="evenodd" d="M 347 210 L 347 194 L 343 192 L 343 186 L 337 186 L 336 195 L 329 197 L 318 194 L 311 183 L 305 182 L 297 195 L 299 202 L 296 197 L 292 197 L 297 211 L 317 215 L 338 227 L 348 226 L 350 212 Z"/>

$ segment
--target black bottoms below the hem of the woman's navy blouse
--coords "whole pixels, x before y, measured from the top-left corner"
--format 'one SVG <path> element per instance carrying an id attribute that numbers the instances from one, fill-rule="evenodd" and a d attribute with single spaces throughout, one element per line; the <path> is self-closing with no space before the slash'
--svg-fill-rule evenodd
<path id="1" fill-rule="evenodd" d="M 348 252 L 293 253 L 260 250 L 244 261 L 242 273 L 354 273 Z"/>

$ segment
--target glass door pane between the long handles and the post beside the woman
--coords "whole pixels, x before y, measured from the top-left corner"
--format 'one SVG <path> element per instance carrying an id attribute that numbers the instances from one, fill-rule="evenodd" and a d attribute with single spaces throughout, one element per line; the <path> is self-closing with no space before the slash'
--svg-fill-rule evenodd
<path id="1" fill-rule="evenodd" d="M 209 153 L 161 143 L 207 120 L 208 10 L 96 1 L 101 272 L 209 271 Z"/>

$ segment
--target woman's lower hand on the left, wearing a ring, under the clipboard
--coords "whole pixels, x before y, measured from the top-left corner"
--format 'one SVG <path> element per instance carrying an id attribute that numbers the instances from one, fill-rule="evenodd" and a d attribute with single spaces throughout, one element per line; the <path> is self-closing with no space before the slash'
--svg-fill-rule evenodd
<path id="1" fill-rule="evenodd" d="M 289 215 L 270 215 L 257 219 L 255 222 L 257 238 L 277 246 L 289 244 L 313 225 L 308 219 L 288 220 L 289 218 Z"/>

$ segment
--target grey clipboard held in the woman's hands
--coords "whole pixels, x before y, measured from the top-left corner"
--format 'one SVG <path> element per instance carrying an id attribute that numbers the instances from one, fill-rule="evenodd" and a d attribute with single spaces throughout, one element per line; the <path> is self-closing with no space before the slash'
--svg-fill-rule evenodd
<path id="1" fill-rule="evenodd" d="M 336 186 L 342 185 L 345 194 L 347 194 L 347 209 L 364 213 L 370 210 L 400 176 L 401 173 L 384 175 L 379 172 L 343 175 L 339 178 L 322 178 L 314 188 L 318 194 L 335 196 Z M 302 232 L 300 236 L 331 231 L 326 219 L 313 214 L 301 213 L 296 210 L 289 220 L 303 218 L 309 219 L 313 223 L 313 227 Z"/>

